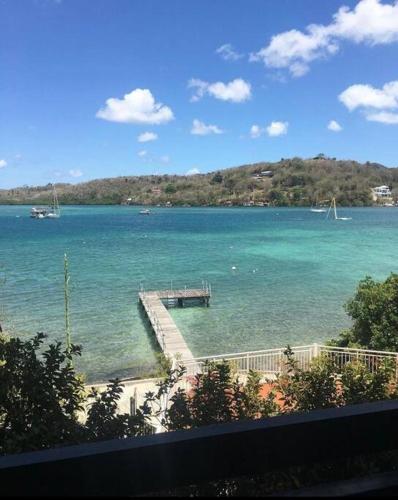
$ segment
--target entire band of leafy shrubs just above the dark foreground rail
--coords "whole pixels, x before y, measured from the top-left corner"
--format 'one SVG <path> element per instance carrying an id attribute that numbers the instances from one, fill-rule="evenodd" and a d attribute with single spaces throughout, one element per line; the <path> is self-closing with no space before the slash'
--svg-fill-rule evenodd
<path id="1" fill-rule="evenodd" d="M 242 382 L 227 362 L 206 363 L 187 389 L 179 385 L 185 369 L 168 366 L 132 416 L 118 412 L 118 379 L 102 392 L 88 392 L 72 364 L 80 348 L 63 351 L 60 343 L 45 347 L 44 340 L 42 333 L 27 341 L 0 337 L 0 454 L 145 435 L 156 422 L 166 430 L 192 429 L 396 397 L 388 362 L 371 373 L 361 363 L 338 369 L 333 359 L 320 357 L 300 370 L 287 349 L 285 368 L 266 397 L 258 373 Z"/>

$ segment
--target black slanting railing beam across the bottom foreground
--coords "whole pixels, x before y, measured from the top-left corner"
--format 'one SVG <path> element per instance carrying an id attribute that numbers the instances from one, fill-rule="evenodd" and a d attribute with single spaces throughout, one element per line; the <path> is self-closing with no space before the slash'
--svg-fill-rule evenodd
<path id="1" fill-rule="evenodd" d="M 0 457 L 3 495 L 139 495 L 398 449 L 398 401 Z"/>

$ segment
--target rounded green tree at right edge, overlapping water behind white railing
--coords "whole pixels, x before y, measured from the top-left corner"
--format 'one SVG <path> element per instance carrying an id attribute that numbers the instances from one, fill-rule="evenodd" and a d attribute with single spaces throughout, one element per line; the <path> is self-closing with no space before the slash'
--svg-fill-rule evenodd
<path id="1" fill-rule="evenodd" d="M 398 351 L 398 274 L 384 282 L 366 277 L 345 309 L 353 324 L 332 341 L 335 345 Z"/>

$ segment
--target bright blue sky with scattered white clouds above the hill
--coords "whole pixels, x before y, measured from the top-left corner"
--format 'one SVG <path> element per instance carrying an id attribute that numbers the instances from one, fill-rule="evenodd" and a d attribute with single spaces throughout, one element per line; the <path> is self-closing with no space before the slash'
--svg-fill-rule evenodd
<path id="1" fill-rule="evenodd" d="M 0 0 L 0 189 L 398 166 L 396 0 Z"/>

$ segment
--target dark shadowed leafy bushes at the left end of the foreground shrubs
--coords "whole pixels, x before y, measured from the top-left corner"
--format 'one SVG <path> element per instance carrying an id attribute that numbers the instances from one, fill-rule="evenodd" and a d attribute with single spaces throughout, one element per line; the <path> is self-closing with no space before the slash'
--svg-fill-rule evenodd
<path id="1" fill-rule="evenodd" d="M 87 393 L 72 365 L 80 347 L 63 350 L 58 342 L 44 349 L 45 338 L 0 336 L 0 454 L 144 432 L 145 409 L 135 417 L 116 413 L 123 390 L 117 379 L 102 393 Z M 81 422 L 86 405 L 87 420 Z"/>

